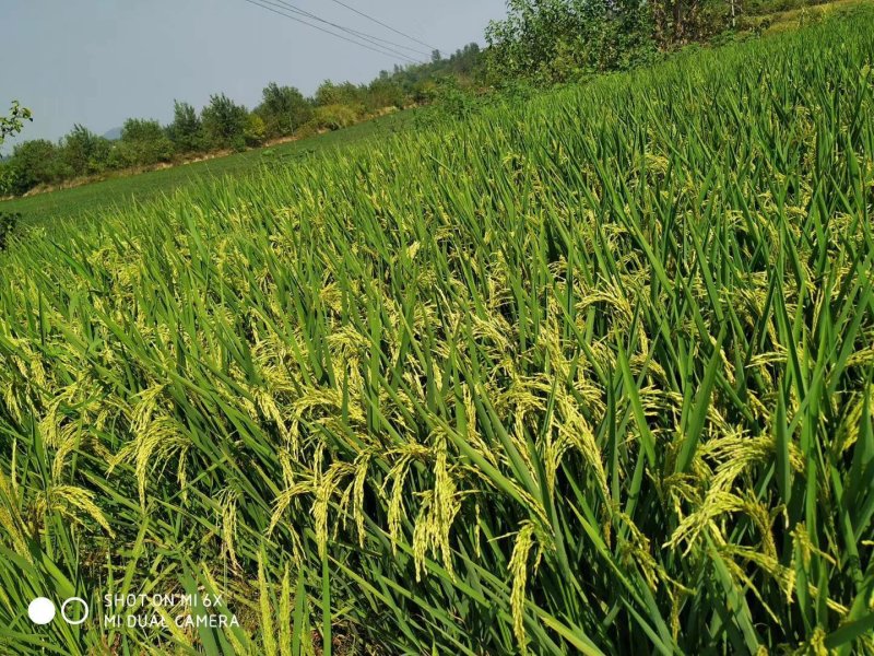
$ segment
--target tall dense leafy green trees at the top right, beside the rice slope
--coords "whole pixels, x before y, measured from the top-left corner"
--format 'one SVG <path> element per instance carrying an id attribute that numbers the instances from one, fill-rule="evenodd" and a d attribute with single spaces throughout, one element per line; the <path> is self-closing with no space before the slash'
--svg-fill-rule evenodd
<path id="1" fill-rule="evenodd" d="M 493 84 L 548 85 L 627 70 L 665 52 L 747 31 L 746 16 L 823 0 L 508 0 L 486 30 Z M 761 24 L 759 22 L 759 24 Z"/>

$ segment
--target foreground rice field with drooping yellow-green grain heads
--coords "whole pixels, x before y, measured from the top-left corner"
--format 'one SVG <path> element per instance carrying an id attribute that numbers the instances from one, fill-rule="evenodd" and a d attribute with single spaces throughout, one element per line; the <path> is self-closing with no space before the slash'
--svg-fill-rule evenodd
<path id="1" fill-rule="evenodd" d="M 874 654 L 872 57 L 858 10 L 33 229 L 0 652 Z"/>

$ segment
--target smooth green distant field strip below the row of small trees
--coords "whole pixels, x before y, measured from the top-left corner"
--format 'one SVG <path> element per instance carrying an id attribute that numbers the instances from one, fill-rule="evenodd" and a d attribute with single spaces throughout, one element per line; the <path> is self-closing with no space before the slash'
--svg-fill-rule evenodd
<path id="1" fill-rule="evenodd" d="M 282 145 L 2 201 L 0 212 L 21 212 L 26 225 L 39 224 L 47 220 L 80 219 L 88 213 L 111 209 L 114 206 L 122 208 L 133 201 L 149 201 L 192 183 L 224 175 L 246 175 L 264 166 L 287 164 L 326 149 L 342 148 L 370 137 L 386 137 L 404 129 L 413 120 L 416 112 L 410 109 L 383 116 L 344 130 Z"/>

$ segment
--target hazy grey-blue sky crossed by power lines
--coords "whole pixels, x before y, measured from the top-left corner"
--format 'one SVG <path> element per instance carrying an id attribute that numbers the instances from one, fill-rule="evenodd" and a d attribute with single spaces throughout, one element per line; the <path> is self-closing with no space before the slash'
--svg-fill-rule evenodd
<path id="1" fill-rule="evenodd" d="M 263 2 L 426 49 L 333 0 Z M 505 14 L 504 0 L 343 2 L 444 51 L 482 44 Z M 33 109 L 24 139 L 57 139 L 74 122 L 98 134 L 130 117 L 167 122 L 174 98 L 200 108 L 216 92 L 252 107 L 271 81 L 308 95 L 324 79 L 367 82 L 403 62 L 245 0 L 0 0 L 0 113 L 12 99 Z"/>

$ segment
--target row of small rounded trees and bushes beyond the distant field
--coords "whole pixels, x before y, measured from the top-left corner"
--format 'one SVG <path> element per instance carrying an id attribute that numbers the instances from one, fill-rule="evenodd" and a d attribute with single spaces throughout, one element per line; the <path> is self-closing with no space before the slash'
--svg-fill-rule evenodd
<path id="1" fill-rule="evenodd" d="M 175 101 L 169 125 L 130 118 L 118 140 L 75 125 L 58 141 L 35 139 L 15 145 L 12 156 L 0 162 L 0 195 L 17 196 L 75 178 L 338 130 L 387 110 L 430 102 L 442 89 L 456 89 L 459 82 L 473 86 L 483 79 L 483 66 L 480 47 L 470 44 L 449 57 L 435 51 L 426 63 L 381 71 L 369 84 L 326 81 L 311 97 L 294 86 L 271 82 L 253 109 L 223 93 L 212 95 L 199 112 L 189 103 Z"/>

